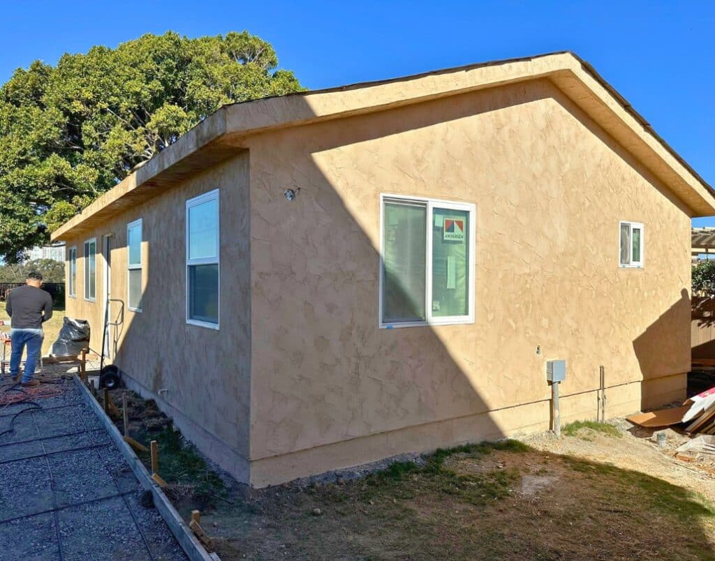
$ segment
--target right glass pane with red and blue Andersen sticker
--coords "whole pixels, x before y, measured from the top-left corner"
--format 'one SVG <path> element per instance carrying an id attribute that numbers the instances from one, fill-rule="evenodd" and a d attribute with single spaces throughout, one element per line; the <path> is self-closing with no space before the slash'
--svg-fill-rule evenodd
<path id="1" fill-rule="evenodd" d="M 433 209 L 432 315 L 469 314 L 469 212 Z"/>

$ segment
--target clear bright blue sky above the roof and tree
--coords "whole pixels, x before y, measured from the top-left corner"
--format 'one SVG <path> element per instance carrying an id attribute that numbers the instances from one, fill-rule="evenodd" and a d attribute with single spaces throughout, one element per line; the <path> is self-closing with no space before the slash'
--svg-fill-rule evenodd
<path id="1" fill-rule="evenodd" d="M 0 81 L 34 59 L 169 29 L 247 29 L 312 89 L 576 51 L 715 184 L 714 2 L 0 0 Z"/>

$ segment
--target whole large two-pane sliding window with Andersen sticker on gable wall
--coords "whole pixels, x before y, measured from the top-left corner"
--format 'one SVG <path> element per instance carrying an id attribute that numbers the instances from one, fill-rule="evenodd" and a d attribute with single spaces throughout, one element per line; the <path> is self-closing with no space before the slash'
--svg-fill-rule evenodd
<path id="1" fill-rule="evenodd" d="M 474 321 L 474 212 L 382 197 L 381 327 Z"/>

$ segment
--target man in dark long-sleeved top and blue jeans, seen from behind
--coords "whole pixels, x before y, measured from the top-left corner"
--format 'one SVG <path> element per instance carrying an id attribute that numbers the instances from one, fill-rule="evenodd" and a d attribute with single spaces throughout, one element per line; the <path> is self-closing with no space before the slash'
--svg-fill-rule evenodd
<path id="1" fill-rule="evenodd" d="M 27 359 L 22 374 L 22 385 L 25 387 L 35 387 L 40 384 L 33 379 L 33 376 L 42 350 L 42 324 L 52 317 L 52 297 L 49 292 L 40 288 L 41 285 L 41 274 L 28 274 L 25 286 L 12 289 L 5 305 L 7 314 L 12 319 L 10 376 L 17 382 L 22 352 L 27 345 Z"/>

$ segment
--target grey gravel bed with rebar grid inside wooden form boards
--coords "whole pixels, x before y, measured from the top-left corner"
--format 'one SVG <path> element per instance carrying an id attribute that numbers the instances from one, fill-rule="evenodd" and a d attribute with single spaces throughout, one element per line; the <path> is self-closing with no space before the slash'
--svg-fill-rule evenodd
<path id="1" fill-rule="evenodd" d="M 0 559 L 187 560 L 82 388 L 59 388 L 0 412 Z"/>

